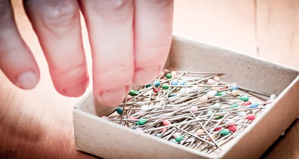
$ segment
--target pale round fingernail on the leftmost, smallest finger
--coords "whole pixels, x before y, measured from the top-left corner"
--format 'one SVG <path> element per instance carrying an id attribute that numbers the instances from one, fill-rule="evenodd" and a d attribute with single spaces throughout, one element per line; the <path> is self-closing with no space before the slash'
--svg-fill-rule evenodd
<path id="1" fill-rule="evenodd" d="M 33 89 L 38 83 L 38 76 L 33 72 L 24 72 L 20 74 L 17 79 L 15 85 L 22 89 Z"/>

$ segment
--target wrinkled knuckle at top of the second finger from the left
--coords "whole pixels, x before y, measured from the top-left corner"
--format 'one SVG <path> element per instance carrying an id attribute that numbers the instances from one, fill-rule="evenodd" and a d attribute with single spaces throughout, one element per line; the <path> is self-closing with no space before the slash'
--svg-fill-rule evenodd
<path id="1" fill-rule="evenodd" d="M 42 8 L 42 19 L 47 25 L 69 26 L 79 17 L 79 10 L 73 1 L 61 0 Z"/>

